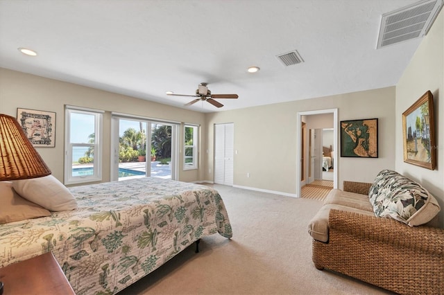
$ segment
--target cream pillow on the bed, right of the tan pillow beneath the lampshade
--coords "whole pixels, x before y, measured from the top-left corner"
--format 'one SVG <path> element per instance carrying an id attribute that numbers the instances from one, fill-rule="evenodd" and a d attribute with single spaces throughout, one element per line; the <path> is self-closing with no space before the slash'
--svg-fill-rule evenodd
<path id="1" fill-rule="evenodd" d="M 67 211 L 77 208 L 76 199 L 56 177 L 48 175 L 12 181 L 15 191 L 24 199 L 48 209 Z"/>

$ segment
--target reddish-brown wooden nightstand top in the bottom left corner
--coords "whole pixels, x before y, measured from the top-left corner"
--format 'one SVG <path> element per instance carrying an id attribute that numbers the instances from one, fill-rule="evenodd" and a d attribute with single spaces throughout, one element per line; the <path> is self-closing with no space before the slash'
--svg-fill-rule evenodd
<path id="1" fill-rule="evenodd" d="M 74 294 L 51 252 L 0 269 L 3 295 Z"/>

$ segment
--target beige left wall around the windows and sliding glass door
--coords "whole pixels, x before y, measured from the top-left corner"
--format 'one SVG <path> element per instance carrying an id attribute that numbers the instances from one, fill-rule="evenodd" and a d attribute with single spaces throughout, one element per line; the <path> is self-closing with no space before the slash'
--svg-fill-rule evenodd
<path id="1" fill-rule="evenodd" d="M 200 124 L 203 127 L 202 133 L 206 134 L 205 116 L 200 112 L 0 68 L 0 113 L 16 117 L 17 107 L 56 112 L 56 147 L 40 147 L 37 148 L 37 151 L 42 155 L 53 175 L 60 181 L 63 181 L 65 105 L 105 111 L 103 117 L 103 181 L 110 181 L 111 111 Z M 182 129 L 183 127 L 180 131 L 181 138 Z M 202 148 L 205 149 L 205 145 Z M 182 158 L 180 157 L 180 159 Z M 179 163 L 180 180 L 198 181 L 202 179 L 203 171 L 183 171 L 182 161 Z"/>

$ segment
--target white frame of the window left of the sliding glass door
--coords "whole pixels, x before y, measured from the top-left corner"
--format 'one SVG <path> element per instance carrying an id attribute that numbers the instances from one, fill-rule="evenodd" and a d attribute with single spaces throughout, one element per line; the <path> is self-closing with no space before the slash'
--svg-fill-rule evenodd
<path id="1" fill-rule="evenodd" d="M 71 114 L 86 114 L 94 116 L 94 139 L 95 143 L 71 143 Z M 102 132 L 103 113 L 96 109 L 82 107 L 70 107 L 65 109 L 65 184 L 83 184 L 92 181 L 102 180 Z M 94 168 L 92 175 L 73 176 L 72 175 L 72 148 L 73 147 L 94 147 Z"/>

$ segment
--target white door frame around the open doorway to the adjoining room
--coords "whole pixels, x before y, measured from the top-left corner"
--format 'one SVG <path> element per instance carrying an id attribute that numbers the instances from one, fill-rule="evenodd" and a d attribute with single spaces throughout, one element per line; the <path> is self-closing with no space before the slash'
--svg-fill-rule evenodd
<path id="1" fill-rule="evenodd" d="M 298 120 L 296 126 L 296 197 L 300 197 L 301 186 L 301 164 L 300 159 L 302 159 L 302 116 L 318 115 L 318 114 L 333 114 L 333 159 L 334 159 L 334 170 L 333 170 L 333 188 L 338 188 L 338 170 L 339 170 L 339 158 L 338 158 L 338 109 L 318 109 L 316 111 L 299 111 Z"/>

